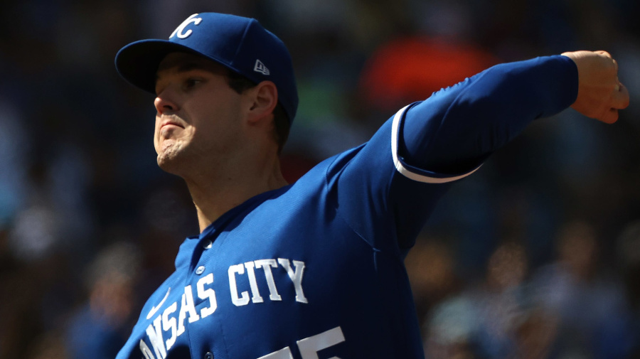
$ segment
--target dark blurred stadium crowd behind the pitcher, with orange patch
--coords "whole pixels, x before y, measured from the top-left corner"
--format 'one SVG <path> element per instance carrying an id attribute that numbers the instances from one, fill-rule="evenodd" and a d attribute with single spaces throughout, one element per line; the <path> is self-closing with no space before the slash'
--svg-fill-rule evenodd
<path id="1" fill-rule="evenodd" d="M 407 257 L 427 358 L 640 358 L 637 0 L 27 0 L 0 10 L 0 358 L 114 358 L 198 232 L 114 55 L 187 16 L 258 18 L 294 58 L 289 181 L 495 63 L 608 50 L 631 106 L 532 124 Z"/>

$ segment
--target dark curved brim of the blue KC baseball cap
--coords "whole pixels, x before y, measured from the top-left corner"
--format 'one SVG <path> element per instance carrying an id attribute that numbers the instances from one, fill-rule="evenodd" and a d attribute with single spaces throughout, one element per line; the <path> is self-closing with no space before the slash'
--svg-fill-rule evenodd
<path id="1" fill-rule="evenodd" d="M 120 76 L 130 84 L 146 92 L 155 93 L 158 66 L 167 54 L 176 51 L 203 55 L 171 41 L 141 40 L 129 43 L 118 51 L 115 57 L 115 67 Z"/>

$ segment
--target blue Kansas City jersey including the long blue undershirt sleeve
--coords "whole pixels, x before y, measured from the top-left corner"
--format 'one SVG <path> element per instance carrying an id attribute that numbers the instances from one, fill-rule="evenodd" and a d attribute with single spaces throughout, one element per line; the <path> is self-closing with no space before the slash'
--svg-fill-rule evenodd
<path id="1" fill-rule="evenodd" d="M 188 237 L 117 358 L 424 358 L 403 260 L 438 198 L 577 95 L 572 60 L 498 65 Z"/>

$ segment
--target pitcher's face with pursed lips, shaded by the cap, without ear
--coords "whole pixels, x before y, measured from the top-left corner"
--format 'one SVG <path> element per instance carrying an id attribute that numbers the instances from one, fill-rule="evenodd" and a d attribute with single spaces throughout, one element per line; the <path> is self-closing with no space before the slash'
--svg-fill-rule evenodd
<path id="1" fill-rule="evenodd" d="M 156 78 L 154 146 L 159 166 L 181 175 L 240 148 L 242 95 L 228 86 L 222 65 L 170 53 Z M 184 173 L 186 174 L 186 173 Z"/>

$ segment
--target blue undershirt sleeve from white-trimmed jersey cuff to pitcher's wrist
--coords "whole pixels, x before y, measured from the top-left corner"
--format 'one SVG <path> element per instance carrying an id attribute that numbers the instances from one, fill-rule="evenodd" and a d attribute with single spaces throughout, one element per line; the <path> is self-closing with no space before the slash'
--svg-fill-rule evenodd
<path id="1" fill-rule="evenodd" d="M 533 120 L 569 107 L 577 68 L 562 55 L 496 65 L 407 112 L 400 153 L 441 173 L 476 168 Z"/>

